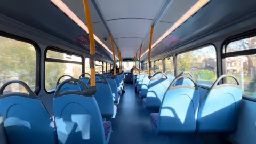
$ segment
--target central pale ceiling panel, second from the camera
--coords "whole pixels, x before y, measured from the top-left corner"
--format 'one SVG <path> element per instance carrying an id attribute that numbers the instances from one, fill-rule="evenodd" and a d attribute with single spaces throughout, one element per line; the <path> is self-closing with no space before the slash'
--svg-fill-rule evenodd
<path id="1" fill-rule="evenodd" d="M 121 19 L 107 21 L 107 25 L 114 38 L 141 37 L 147 34 L 152 21 L 142 19 Z"/>

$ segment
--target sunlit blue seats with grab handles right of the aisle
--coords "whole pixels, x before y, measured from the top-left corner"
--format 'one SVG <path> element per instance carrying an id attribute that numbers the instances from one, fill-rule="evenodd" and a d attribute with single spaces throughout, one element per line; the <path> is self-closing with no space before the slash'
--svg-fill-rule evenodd
<path id="1" fill-rule="evenodd" d="M 225 77 L 234 78 L 237 84 L 218 85 Z M 138 74 L 136 87 L 143 107 L 158 110 L 150 115 L 156 134 L 230 134 L 236 130 L 242 89 L 233 75 L 220 76 L 204 98 L 200 98 L 198 86 L 187 72 L 178 77 Z"/>

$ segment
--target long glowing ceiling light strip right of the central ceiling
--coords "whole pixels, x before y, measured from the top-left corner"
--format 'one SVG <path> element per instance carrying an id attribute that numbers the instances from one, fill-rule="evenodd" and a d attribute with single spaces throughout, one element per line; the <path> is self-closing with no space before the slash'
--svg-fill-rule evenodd
<path id="1" fill-rule="evenodd" d="M 188 20 L 194 13 L 196 13 L 201 7 L 207 4 L 210 0 L 199 0 L 195 5 L 193 5 L 178 21 L 176 21 L 170 29 L 168 29 L 161 37 L 157 39 L 157 41 L 151 45 L 151 49 L 153 49 L 157 44 L 163 41 L 164 38 L 169 36 L 172 31 L 177 29 L 183 22 Z M 141 55 L 141 58 L 148 53 L 148 50 Z"/>

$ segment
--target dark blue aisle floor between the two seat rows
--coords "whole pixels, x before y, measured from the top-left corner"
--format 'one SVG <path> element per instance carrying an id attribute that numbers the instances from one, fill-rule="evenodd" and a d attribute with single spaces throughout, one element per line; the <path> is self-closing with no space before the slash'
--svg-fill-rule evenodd
<path id="1" fill-rule="evenodd" d="M 167 137 L 157 136 L 151 129 L 150 113 L 145 110 L 132 84 L 125 84 L 125 93 L 117 106 L 117 115 L 112 122 L 113 132 L 109 144 L 165 144 Z"/>

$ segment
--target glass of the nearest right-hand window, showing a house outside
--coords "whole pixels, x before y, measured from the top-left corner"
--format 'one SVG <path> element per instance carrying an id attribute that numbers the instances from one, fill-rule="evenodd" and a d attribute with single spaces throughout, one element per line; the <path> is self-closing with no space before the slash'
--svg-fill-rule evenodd
<path id="1" fill-rule="evenodd" d="M 226 46 L 226 52 L 243 51 L 256 49 L 256 37 L 241 39 L 231 42 Z M 250 55 L 228 57 L 223 59 L 223 66 L 226 68 L 226 74 L 236 76 L 246 95 L 256 97 L 256 53 Z M 236 83 L 233 78 L 228 77 L 227 83 Z"/>

